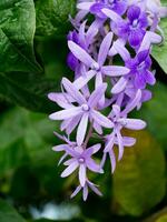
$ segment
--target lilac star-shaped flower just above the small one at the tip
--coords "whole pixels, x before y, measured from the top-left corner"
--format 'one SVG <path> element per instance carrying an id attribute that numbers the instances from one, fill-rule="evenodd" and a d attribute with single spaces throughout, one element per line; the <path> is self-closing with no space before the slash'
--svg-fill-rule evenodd
<path id="1" fill-rule="evenodd" d="M 61 176 L 69 176 L 79 169 L 79 182 L 81 186 L 85 186 L 87 181 L 87 169 L 96 173 L 102 173 L 100 165 L 91 158 L 92 154 L 99 151 L 100 147 L 100 144 L 92 145 L 88 149 L 68 144 L 53 147 L 53 151 L 65 151 L 66 154 L 70 157 L 70 159 L 63 163 L 67 168 L 61 173 Z"/>

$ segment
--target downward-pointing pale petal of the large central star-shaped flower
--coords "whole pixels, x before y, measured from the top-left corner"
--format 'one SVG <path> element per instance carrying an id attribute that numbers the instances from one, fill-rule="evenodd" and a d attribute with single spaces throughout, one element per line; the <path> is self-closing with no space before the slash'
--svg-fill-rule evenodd
<path id="1" fill-rule="evenodd" d="M 84 113 L 81 121 L 79 123 L 78 130 L 77 130 L 77 144 L 81 145 L 84 140 L 85 140 L 85 135 L 86 135 L 86 131 L 87 131 L 87 127 L 88 127 L 88 118 L 89 118 L 89 113 Z"/>

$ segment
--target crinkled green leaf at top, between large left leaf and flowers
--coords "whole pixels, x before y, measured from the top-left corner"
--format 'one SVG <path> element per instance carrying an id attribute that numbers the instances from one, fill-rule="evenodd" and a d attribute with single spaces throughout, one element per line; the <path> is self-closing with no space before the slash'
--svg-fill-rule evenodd
<path id="1" fill-rule="evenodd" d="M 69 14 L 76 11 L 76 0 L 36 1 L 37 37 L 58 37 L 69 30 Z"/>

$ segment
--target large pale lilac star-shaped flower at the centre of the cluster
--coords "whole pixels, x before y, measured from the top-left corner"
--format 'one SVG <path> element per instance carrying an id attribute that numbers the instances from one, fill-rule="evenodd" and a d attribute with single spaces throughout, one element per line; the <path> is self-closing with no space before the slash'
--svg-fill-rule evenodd
<path id="1" fill-rule="evenodd" d="M 77 143 L 78 145 L 81 145 L 85 139 L 85 134 L 88 127 L 88 120 L 90 122 L 97 122 L 99 125 L 105 128 L 111 128 L 112 122 L 106 118 L 104 114 L 97 111 L 98 109 L 98 102 L 104 95 L 107 84 L 104 83 L 99 85 L 89 97 L 87 100 L 84 94 L 81 94 L 77 88 L 66 78 L 62 79 L 62 85 L 66 89 L 68 93 L 68 98 L 72 98 L 73 101 L 68 100 L 66 94 L 61 94 L 61 101 L 60 97 L 58 98 L 57 94 L 55 97 L 53 93 L 49 94 L 49 99 L 56 101 L 60 107 L 62 107 L 65 110 L 55 112 L 50 114 L 51 120 L 65 120 L 63 128 L 70 128 L 73 130 L 78 124 L 77 130 Z M 73 102 L 78 103 L 76 107 L 72 104 Z"/>

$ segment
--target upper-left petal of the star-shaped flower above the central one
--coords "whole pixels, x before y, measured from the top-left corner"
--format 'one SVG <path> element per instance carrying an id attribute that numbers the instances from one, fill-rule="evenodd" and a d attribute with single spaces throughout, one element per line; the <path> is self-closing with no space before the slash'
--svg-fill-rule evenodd
<path id="1" fill-rule="evenodd" d="M 68 47 L 70 51 L 75 54 L 77 59 L 84 62 L 87 67 L 91 68 L 96 61 L 78 44 L 72 41 L 68 41 Z"/>

